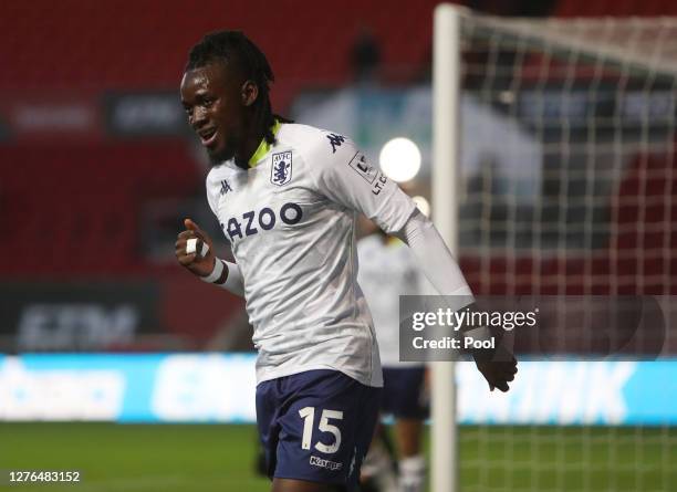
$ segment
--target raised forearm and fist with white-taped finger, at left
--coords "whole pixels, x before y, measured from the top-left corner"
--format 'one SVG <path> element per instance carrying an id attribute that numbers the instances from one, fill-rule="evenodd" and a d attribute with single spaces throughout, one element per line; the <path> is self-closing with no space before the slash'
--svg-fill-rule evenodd
<path id="1" fill-rule="evenodd" d="M 192 220 L 185 219 L 184 226 L 186 230 L 179 232 L 174 244 L 179 264 L 204 282 L 242 296 L 244 286 L 238 265 L 217 258 L 211 238 Z"/>

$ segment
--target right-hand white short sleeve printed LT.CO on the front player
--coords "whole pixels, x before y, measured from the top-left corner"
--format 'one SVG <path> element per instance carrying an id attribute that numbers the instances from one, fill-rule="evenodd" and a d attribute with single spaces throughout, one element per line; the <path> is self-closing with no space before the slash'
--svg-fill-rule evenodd
<path id="1" fill-rule="evenodd" d="M 399 231 L 416 208 L 414 201 L 351 139 L 329 132 L 322 136 L 306 156 L 316 190 L 364 213 L 387 233 Z"/>

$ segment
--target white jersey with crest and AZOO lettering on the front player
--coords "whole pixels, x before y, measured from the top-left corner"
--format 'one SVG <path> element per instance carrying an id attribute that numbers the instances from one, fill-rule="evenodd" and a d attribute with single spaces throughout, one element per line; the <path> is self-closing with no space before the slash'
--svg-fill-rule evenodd
<path id="1" fill-rule="evenodd" d="M 346 137 L 283 124 L 275 138 L 250 169 L 229 160 L 207 177 L 209 206 L 243 278 L 257 379 L 334 369 L 382 386 L 356 282 L 355 212 L 392 232 L 415 205 Z"/>

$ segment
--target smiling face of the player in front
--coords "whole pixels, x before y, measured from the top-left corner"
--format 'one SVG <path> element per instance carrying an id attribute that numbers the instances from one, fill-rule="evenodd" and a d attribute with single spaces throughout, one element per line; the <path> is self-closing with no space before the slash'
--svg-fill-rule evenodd
<path id="1" fill-rule="evenodd" d="M 240 85 L 220 63 L 190 70 L 181 80 L 181 103 L 188 123 L 213 164 L 233 158 L 242 140 L 244 106 Z"/>

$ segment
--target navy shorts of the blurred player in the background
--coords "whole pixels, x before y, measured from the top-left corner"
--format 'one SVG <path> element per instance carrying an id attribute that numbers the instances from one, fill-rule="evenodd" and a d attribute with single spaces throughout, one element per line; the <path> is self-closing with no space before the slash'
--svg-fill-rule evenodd
<path id="1" fill-rule="evenodd" d="M 383 368 L 381 411 L 396 419 L 426 419 L 429 398 L 425 367 Z"/>

